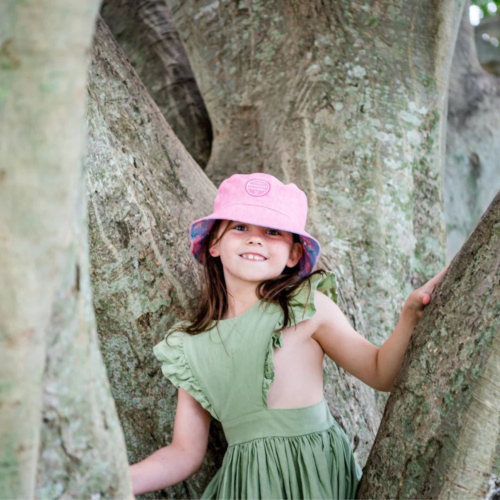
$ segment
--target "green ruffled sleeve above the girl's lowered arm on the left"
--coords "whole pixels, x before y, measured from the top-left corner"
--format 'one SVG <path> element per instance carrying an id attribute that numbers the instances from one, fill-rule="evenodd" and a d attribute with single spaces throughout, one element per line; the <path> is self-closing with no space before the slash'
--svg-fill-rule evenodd
<path id="1" fill-rule="evenodd" d="M 161 371 L 175 387 L 182 387 L 196 401 L 217 418 L 210 402 L 203 393 L 196 377 L 194 376 L 184 351 L 184 341 L 187 333 L 174 330 L 168 332 L 165 338 L 153 347 L 153 353 L 161 361 Z"/>

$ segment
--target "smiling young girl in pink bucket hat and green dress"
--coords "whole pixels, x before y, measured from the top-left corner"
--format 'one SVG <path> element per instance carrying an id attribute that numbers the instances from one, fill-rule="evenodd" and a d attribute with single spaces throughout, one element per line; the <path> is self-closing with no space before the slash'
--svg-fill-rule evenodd
<path id="1" fill-rule="evenodd" d="M 203 498 L 354 497 L 360 469 L 323 398 L 323 355 L 389 391 L 442 271 L 409 295 L 377 348 L 336 306 L 334 274 L 311 272 L 320 248 L 306 215 L 295 184 L 235 174 L 213 213 L 191 224 L 204 268 L 198 309 L 154 347 L 178 387 L 172 441 L 131 466 L 135 494 L 200 466 L 211 415 L 228 448 Z"/>

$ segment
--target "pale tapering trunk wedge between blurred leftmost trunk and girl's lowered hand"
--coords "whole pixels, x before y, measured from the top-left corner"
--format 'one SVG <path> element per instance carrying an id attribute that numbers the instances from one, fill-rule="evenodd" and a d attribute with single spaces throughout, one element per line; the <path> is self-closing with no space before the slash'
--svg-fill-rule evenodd
<path id="1" fill-rule="evenodd" d="M 88 263 L 86 176 L 79 167 L 62 279 L 46 329 L 34 498 L 131 498 L 123 433 L 99 352 Z"/>

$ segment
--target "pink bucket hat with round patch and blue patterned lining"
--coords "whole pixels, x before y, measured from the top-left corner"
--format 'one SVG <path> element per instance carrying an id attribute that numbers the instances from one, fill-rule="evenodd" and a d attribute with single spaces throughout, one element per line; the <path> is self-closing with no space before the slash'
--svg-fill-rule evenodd
<path id="1" fill-rule="evenodd" d="M 191 223 L 191 253 L 203 262 L 206 236 L 217 219 L 236 220 L 272 229 L 294 232 L 300 236 L 303 254 L 299 276 L 306 276 L 316 264 L 321 247 L 305 231 L 307 197 L 295 184 L 283 184 L 267 173 L 235 173 L 220 184 L 213 213 Z"/>

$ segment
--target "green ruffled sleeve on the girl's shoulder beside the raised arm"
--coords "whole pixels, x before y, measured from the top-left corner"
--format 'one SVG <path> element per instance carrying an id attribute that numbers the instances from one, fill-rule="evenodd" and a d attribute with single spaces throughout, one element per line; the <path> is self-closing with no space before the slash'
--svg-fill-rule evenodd
<path id="1" fill-rule="evenodd" d="M 338 295 L 335 273 L 324 271 L 321 274 L 313 274 L 291 297 L 290 306 L 296 323 L 312 317 L 316 312 L 314 305 L 316 290 L 321 291 L 336 303 Z"/>

